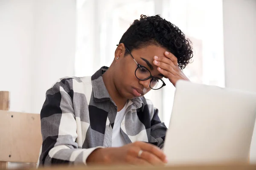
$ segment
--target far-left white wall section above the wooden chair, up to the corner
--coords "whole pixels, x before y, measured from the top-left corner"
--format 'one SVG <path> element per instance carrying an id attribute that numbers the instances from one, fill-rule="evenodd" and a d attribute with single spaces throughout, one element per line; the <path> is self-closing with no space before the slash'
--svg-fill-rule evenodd
<path id="1" fill-rule="evenodd" d="M 12 111 L 31 112 L 33 0 L 0 0 L 0 91 Z"/>

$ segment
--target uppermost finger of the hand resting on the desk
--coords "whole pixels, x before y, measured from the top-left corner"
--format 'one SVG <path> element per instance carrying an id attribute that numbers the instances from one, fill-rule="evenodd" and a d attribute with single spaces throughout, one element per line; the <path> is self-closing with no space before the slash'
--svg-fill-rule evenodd
<path id="1" fill-rule="evenodd" d="M 166 155 L 160 150 L 158 147 L 153 144 L 145 143 L 145 142 L 135 142 L 135 145 L 139 146 L 143 151 L 148 151 L 149 153 L 157 156 L 161 161 L 166 162 Z"/>

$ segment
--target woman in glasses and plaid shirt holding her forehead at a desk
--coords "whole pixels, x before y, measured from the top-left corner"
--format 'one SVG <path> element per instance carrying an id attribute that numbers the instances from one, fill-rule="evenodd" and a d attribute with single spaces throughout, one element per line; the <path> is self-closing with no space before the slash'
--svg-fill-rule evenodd
<path id="1" fill-rule="evenodd" d="M 188 78 L 189 39 L 159 15 L 134 23 L 117 45 L 111 66 L 92 77 L 59 79 L 41 110 L 41 165 L 163 164 L 166 126 L 143 96 Z"/>

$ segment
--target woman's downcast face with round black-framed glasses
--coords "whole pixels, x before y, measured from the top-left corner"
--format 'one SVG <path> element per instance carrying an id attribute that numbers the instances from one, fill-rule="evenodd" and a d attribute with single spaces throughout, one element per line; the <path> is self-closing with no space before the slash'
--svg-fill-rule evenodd
<path id="1" fill-rule="evenodd" d="M 153 77 L 162 79 L 163 75 L 157 70 L 157 66 L 153 64 L 154 56 L 163 56 L 165 48 L 157 45 L 148 45 L 140 49 L 131 51 L 132 56 L 138 64 L 147 68 Z M 137 64 L 130 54 L 125 54 L 124 44 L 120 44 L 115 52 L 115 71 L 114 83 L 119 94 L 126 99 L 133 99 L 135 97 L 143 96 L 151 90 L 149 87 L 150 80 L 139 80 L 135 76 Z"/>

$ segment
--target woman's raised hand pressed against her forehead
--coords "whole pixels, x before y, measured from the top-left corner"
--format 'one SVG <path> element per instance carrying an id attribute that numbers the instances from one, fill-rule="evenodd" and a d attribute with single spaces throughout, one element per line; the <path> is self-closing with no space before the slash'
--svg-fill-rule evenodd
<path id="1" fill-rule="evenodd" d="M 157 70 L 169 79 L 175 86 L 176 82 L 180 79 L 188 80 L 183 71 L 178 66 L 177 58 L 170 52 L 164 53 L 166 57 L 154 56 L 154 65 L 157 66 Z"/>

